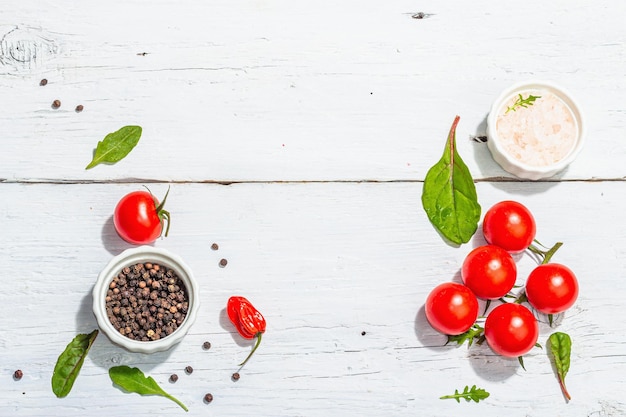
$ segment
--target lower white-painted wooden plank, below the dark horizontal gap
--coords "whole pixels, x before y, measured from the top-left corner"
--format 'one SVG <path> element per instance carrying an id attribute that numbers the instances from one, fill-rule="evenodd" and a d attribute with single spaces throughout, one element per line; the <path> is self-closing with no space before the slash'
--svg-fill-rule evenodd
<path id="1" fill-rule="evenodd" d="M 566 404 L 545 350 L 516 360 L 486 346 L 442 346 L 423 303 L 436 284 L 458 279 L 472 246 L 447 246 L 428 223 L 414 183 L 174 184 L 170 236 L 156 245 L 181 255 L 201 285 L 198 321 L 171 351 L 132 354 L 96 340 L 71 394 L 57 399 L 50 377 L 77 332 L 93 329 L 96 275 L 128 247 L 111 225 L 117 200 L 138 184 L 2 184 L 0 415 L 164 415 L 182 413 L 156 397 L 111 386 L 115 364 L 138 366 L 190 408 L 189 415 L 409 416 L 621 415 L 626 382 L 619 227 L 624 183 L 480 183 L 486 209 L 506 198 L 535 213 L 538 238 L 562 240 L 555 256 L 576 271 L 580 298 L 558 330 L 572 336 Z M 155 194 L 165 184 L 151 185 Z M 616 221 L 618 224 L 616 224 Z M 220 245 L 212 251 L 210 245 Z M 225 268 L 219 259 L 228 259 Z M 530 271 L 519 260 L 520 276 Z M 523 278 L 521 278 L 523 282 Z M 248 353 L 225 318 L 230 295 L 248 296 L 268 330 L 238 382 Z M 545 344 L 554 329 L 541 324 Z M 362 335 L 365 332 L 365 335 Z M 208 340 L 213 347 L 204 351 Z M 185 375 L 191 365 L 195 371 Z M 15 369 L 24 371 L 13 381 Z M 180 376 L 167 382 L 171 373 Z M 439 400 L 465 384 L 491 392 L 480 404 Z M 202 397 L 211 392 L 207 405 Z"/>

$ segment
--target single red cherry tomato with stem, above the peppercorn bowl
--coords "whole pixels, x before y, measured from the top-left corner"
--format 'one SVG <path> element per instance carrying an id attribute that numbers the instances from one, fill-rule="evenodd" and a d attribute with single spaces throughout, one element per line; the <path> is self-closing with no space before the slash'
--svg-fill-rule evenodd
<path id="1" fill-rule="evenodd" d="M 168 190 L 169 193 L 169 190 Z M 115 230 L 125 241 L 134 245 L 144 245 L 154 242 L 163 232 L 163 223 L 167 221 L 169 232 L 170 214 L 163 210 L 163 202 L 158 200 L 147 191 L 134 191 L 125 195 L 117 203 L 113 214 Z"/>

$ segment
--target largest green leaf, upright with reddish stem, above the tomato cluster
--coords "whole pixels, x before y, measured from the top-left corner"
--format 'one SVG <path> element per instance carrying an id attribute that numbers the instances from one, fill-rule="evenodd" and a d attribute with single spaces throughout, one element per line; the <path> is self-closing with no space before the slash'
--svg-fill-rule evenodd
<path id="1" fill-rule="evenodd" d="M 480 205 L 469 169 L 456 150 L 454 119 L 441 159 L 424 179 L 422 205 L 430 222 L 453 243 L 467 243 L 478 228 Z"/>

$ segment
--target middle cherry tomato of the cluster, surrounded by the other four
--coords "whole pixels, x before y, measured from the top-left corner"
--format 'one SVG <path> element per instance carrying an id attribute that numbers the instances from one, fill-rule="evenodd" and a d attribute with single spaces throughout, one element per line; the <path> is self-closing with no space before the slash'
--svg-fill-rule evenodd
<path id="1" fill-rule="evenodd" d="M 465 257 L 461 277 L 476 297 L 495 300 L 504 297 L 515 285 L 517 266 L 509 252 L 499 246 L 485 245 Z"/>

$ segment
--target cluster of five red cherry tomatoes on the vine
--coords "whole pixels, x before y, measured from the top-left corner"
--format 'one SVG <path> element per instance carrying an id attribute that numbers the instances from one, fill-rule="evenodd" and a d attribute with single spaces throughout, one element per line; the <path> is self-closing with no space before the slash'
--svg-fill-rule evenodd
<path id="1" fill-rule="evenodd" d="M 578 297 L 578 281 L 565 265 L 551 263 L 553 250 L 533 246 L 536 224 L 530 211 L 515 201 L 491 207 L 483 219 L 487 245 L 473 249 L 463 261 L 463 284 L 447 282 L 435 287 L 425 304 L 426 318 L 437 331 L 458 336 L 473 331 L 484 337 L 491 349 L 506 357 L 521 357 L 536 344 L 539 325 L 533 312 L 550 315 L 570 308 Z M 484 328 L 477 324 L 478 299 L 505 301 L 517 281 L 512 254 L 525 250 L 540 254 L 543 262 L 529 274 L 515 302 L 503 302 L 487 315 Z"/>

